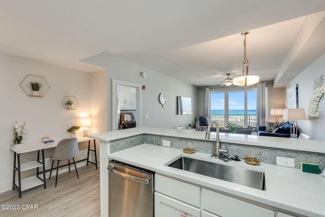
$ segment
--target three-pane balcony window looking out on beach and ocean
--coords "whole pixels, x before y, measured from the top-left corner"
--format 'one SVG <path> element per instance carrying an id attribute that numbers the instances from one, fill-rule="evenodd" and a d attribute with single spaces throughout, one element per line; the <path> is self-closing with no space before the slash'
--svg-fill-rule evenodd
<path id="1" fill-rule="evenodd" d="M 226 123 L 241 127 L 256 125 L 256 89 L 220 91 L 211 89 L 211 120 L 220 128 Z"/>

